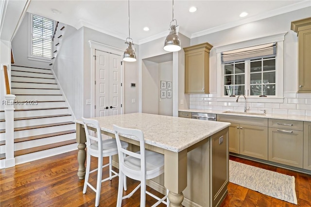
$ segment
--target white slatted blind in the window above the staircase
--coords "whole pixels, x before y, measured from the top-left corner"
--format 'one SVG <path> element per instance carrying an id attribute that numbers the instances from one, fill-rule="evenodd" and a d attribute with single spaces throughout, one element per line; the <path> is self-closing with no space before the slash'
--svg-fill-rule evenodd
<path id="1" fill-rule="evenodd" d="M 51 58 L 54 21 L 33 15 L 32 23 L 32 55 Z"/>

